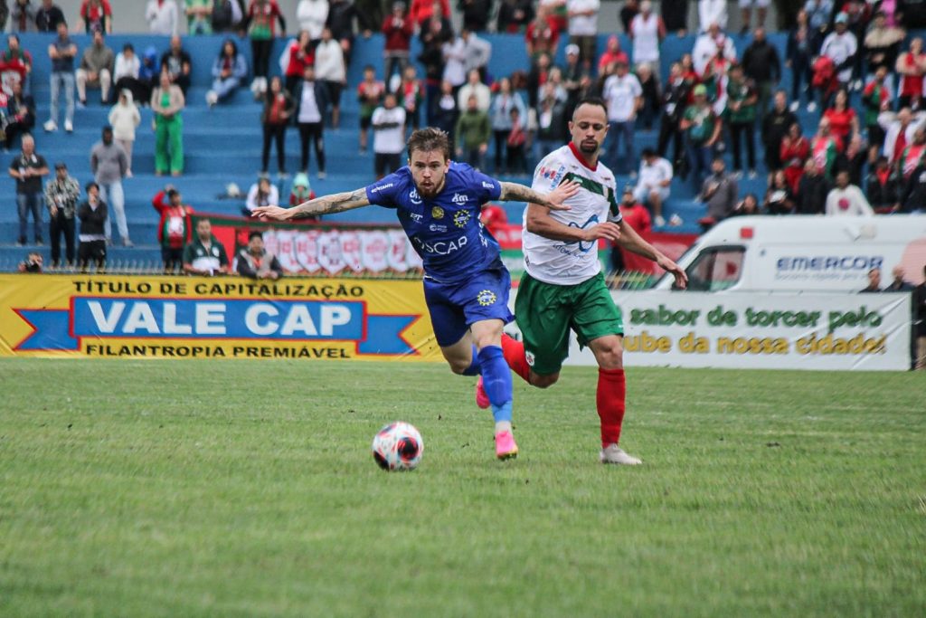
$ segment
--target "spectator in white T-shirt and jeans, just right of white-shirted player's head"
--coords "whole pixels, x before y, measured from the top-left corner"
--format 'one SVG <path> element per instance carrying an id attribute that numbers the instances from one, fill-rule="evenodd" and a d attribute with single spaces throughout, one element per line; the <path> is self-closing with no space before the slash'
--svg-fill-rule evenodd
<path id="1" fill-rule="evenodd" d="M 643 87 L 636 76 L 627 70 L 627 63 L 618 62 L 613 75 L 605 80 L 602 97 L 607 102 L 607 121 L 610 126 L 610 139 L 607 140 L 607 163 L 614 173 L 631 172 L 629 170 L 633 154 L 633 133 L 637 110 L 643 105 Z M 624 141 L 624 160 L 618 158 L 618 143 Z"/>

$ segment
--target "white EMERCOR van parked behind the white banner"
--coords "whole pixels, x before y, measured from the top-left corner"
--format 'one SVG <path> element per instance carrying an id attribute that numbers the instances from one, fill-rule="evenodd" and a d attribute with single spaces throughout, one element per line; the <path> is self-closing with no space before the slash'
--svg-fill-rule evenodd
<path id="1" fill-rule="evenodd" d="M 857 292 L 868 272 L 882 285 L 896 265 L 923 281 L 926 215 L 732 217 L 697 239 L 678 260 L 699 292 Z M 656 284 L 672 289 L 672 277 Z"/>

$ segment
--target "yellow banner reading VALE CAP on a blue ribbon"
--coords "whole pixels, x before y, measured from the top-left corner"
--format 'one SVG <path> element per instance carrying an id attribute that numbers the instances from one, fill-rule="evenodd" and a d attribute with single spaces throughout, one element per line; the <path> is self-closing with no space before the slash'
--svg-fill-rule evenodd
<path id="1" fill-rule="evenodd" d="M 440 360 L 417 281 L 0 274 L 0 356 Z"/>

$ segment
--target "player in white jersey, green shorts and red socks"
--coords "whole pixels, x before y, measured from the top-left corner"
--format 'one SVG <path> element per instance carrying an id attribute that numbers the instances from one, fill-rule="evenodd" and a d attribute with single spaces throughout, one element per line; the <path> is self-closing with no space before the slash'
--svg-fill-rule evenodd
<path id="1" fill-rule="evenodd" d="M 601 99 L 584 99 L 569 122 L 571 141 L 547 155 L 533 173 L 532 189 L 548 193 L 560 183 L 580 184 L 551 211 L 530 204 L 524 211 L 524 270 L 515 302 L 523 343 L 507 335 L 502 350 L 508 366 L 528 383 L 546 388 L 559 378 L 569 356 L 569 330 L 598 362 L 595 401 L 601 420 L 601 455 L 605 463 L 635 465 L 641 460 L 619 448 L 626 392 L 623 369 L 623 323 L 605 284 L 598 240 L 654 260 L 675 276 L 679 287 L 688 278 L 679 266 L 641 238 L 620 218 L 614 174 L 599 160 L 607 135 L 607 107 Z M 632 163 L 633 167 L 636 165 Z M 476 402 L 488 407 L 477 385 Z"/>

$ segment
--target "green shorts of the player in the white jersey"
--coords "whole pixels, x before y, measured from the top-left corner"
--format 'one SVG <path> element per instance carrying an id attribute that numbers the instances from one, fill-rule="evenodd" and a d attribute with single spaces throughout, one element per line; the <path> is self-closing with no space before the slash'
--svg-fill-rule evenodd
<path id="1" fill-rule="evenodd" d="M 620 309 L 601 272 L 575 285 L 544 284 L 525 272 L 515 300 L 515 319 L 528 364 L 540 375 L 559 372 L 569 356 L 569 329 L 578 335 L 580 346 L 607 334 L 624 334 Z"/>

